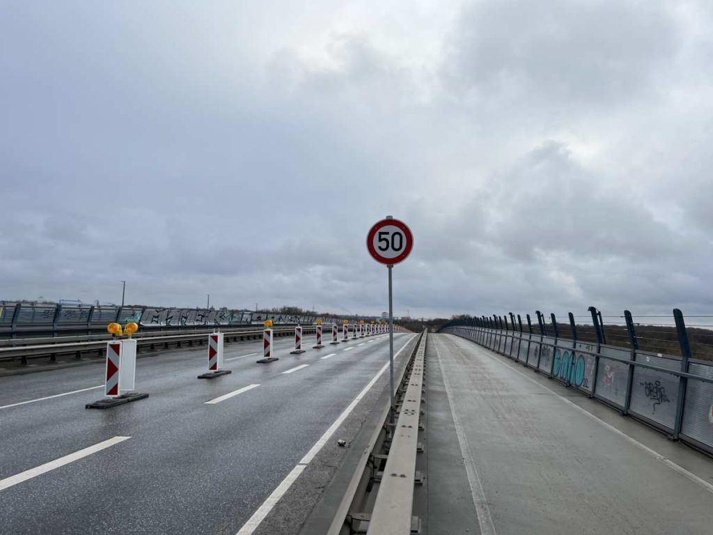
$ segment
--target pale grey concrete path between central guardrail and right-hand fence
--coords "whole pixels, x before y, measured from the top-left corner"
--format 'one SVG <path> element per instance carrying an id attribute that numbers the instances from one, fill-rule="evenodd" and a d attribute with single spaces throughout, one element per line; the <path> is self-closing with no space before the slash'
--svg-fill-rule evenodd
<path id="1" fill-rule="evenodd" d="M 709 457 L 460 337 L 427 352 L 483 534 L 712 532 Z M 429 530 L 452 516 L 429 510 Z"/>

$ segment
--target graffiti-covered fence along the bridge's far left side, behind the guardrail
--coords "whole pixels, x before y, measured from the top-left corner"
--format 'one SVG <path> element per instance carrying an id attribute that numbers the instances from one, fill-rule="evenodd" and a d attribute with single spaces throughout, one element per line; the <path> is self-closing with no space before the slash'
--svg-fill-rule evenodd
<path id="1" fill-rule="evenodd" d="M 324 317 L 342 322 L 342 317 Z M 349 319 L 349 318 L 344 318 Z M 355 318 L 351 318 L 352 321 Z M 361 318 L 365 319 L 365 318 Z M 369 318 L 371 319 L 371 318 Z M 106 330 L 111 322 L 137 322 L 141 327 L 162 330 L 182 327 L 259 325 L 272 320 L 277 325 L 312 325 L 317 315 L 287 315 L 250 310 L 189 308 L 41 305 L 0 302 L 0 338 L 91 334 Z"/>

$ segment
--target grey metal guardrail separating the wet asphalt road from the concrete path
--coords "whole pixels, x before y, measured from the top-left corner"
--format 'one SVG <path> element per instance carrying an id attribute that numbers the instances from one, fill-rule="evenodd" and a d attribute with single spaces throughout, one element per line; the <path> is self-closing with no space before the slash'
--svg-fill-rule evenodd
<path id="1" fill-rule="evenodd" d="M 416 456 L 422 451 L 418 432 L 425 348 L 424 331 L 396 377 L 396 424 L 389 423 L 387 402 L 380 417 L 383 423 L 374 429 L 361 454 L 327 535 L 367 529 L 369 534 L 421 533 L 421 521 L 412 515 L 412 505 L 414 485 L 423 481 L 416 481 Z"/>

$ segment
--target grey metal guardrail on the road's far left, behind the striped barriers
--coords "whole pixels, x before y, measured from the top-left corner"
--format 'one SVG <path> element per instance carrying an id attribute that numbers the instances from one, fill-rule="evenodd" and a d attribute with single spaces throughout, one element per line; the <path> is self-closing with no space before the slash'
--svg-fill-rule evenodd
<path id="1" fill-rule="evenodd" d="M 314 327 L 304 327 L 302 330 L 304 334 L 312 334 L 314 331 Z M 164 349 L 168 349 L 170 344 L 181 347 L 183 343 L 188 343 L 189 346 L 192 346 L 194 342 L 198 342 L 202 345 L 207 340 L 208 332 L 212 331 L 197 332 L 188 335 L 137 337 L 137 348 L 149 347 L 150 350 L 155 350 L 156 347 L 161 346 Z M 262 337 L 262 329 L 223 330 L 222 332 L 225 333 L 226 343 L 249 338 L 259 339 Z M 293 328 L 277 328 L 274 332 L 277 337 L 294 335 Z M 39 344 L 24 347 L 1 347 L 0 360 L 20 360 L 21 365 L 27 365 L 29 363 L 28 360 L 31 358 L 49 357 L 49 359 L 54 362 L 57 355 L 74 354 L 76 358 L 80 358 L 83 352 L 86 353 L 90 351 L 96 351 L 97 355 L 101 357 L 106 350 L 107 340 L 108 339 L 91 342 Z"/>

